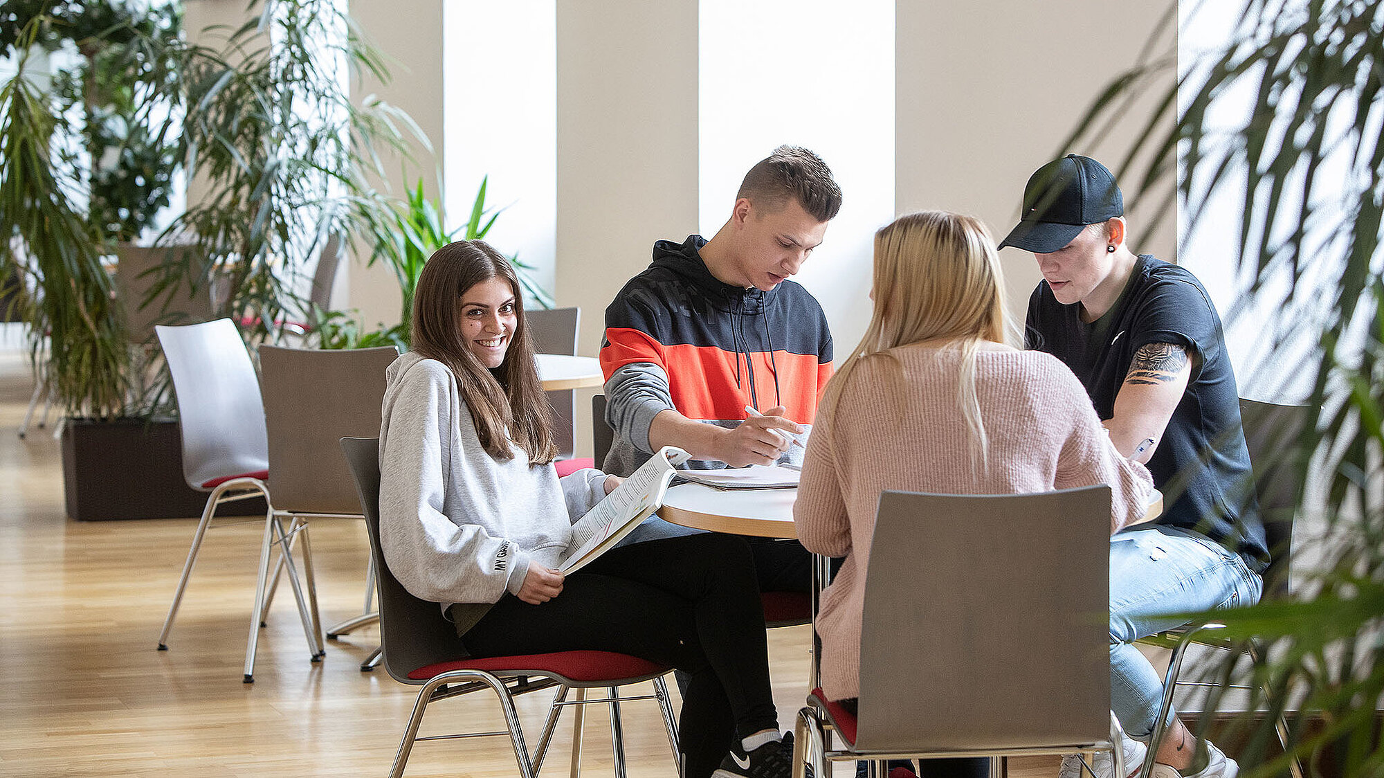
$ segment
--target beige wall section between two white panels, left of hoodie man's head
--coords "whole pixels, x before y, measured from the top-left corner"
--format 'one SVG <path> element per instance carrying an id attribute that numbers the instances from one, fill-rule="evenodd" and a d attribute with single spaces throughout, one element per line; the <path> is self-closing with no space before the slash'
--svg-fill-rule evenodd
<path id="1" fill-rule="evenodd" d="M 698 223 L 698 3 L 558 4 L 558 302 L 577 349 L 659 238 Z"/>

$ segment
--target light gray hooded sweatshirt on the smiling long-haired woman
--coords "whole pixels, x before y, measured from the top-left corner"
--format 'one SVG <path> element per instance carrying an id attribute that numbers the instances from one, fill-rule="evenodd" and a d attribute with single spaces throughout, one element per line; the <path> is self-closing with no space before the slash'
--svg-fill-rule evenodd
<path id="1" fill-rule="evenodd" d="M 585 468 L 559 479 L 518 446 L 507 461 L 487 454 L 437 360 L 410 352 L 385 375 L 379 539 L 404 588 L 444 609 L 490 605 L 519 591 L 530 563 L 556 568 L 572 522 L 605 497 L 605 473 Z M 479 619 L 486 608 L 471 610 Z"/>

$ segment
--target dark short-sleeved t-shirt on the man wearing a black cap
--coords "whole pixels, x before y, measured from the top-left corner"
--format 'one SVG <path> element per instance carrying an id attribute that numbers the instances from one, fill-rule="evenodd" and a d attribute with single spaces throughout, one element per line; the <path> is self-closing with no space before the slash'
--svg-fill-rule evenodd
<path id="1" fill-rule="evenodd" d="M 1142 255 L 1116 305 L 1089 324 L 1081 321 L 1081 303 L 1059 303 L 1042 281 L 1028 299 L 1026 341 L 1077 374 L 1102 419 L 1114 415 L 1116 395 L 1139 347 L 1185 347 L 1192 377 L 1149 460 L 1164 496 L 1158 523 L 1199 532 L 1239 552 L 1251 570 L 1264 570 L 1269 557 L 1235 371 L 1221 317 L 1192 273 Z"/>

